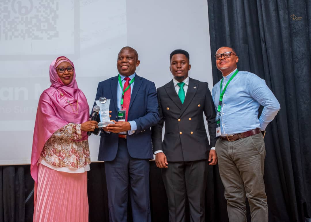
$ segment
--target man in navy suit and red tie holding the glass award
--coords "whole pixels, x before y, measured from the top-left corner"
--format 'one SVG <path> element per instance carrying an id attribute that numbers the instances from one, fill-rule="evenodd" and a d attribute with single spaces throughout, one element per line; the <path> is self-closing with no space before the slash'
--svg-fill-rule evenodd
<path id="1" fill-rule="evenodd" d="M 127 221 L 128 193 L 133 221 L 151 221 L 150 127 L 159 121 L 159 113 L 156 86 L 136 74 L 139 63 L 137 51 L 123 47 L 118 53 L 119 75 L 100 82 L 95 98 L 111 99 L 115 123 L 103 128 L 98 155 L 105 161 L 110 221 Z"/>

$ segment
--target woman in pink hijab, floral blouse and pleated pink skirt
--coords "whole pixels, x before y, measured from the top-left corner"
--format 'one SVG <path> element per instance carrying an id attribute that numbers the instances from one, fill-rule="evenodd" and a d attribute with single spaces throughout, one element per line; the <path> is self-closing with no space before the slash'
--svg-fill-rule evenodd
<path id="1" fill-rule="evenodd" d="M 88 221 L 89 106 L 78 88 L 73 63 L 58 57 L 50 65 L 50 88 L 40 96 L 31 153 L 35 180 L 33 221 Z"/>

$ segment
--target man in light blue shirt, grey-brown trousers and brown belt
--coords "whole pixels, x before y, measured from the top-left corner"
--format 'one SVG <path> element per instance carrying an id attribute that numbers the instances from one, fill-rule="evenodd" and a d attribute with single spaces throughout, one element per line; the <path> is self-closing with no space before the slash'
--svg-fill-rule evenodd
<path id="1" fill-rule="evenodd" d="M 216 152 L 229 220 L 246 222 L 247 197 L 252 222 L 265 222 L 268 221 L 263 181 L 266 151 L 260 132 L 274 119 L 280 104 L 263 79 L 237 69 L 239 58 L 234 49 L 221 47 L 215 58 L 223 75 L 212 89 L 216 134 L 220 136 Z M 264 108 L 258 118 L 260 105 Z"/>

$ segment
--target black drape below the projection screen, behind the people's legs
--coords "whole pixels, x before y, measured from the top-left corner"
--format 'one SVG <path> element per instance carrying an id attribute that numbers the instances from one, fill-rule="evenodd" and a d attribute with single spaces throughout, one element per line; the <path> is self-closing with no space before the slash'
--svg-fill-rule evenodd
<path id="1" fill-rule="evenodd" d="M 109 221 L 108 195 L 104 163 L 92 163 L 87 173 L 87 193 L 89 200 L 89 221 Z M 215 175 L 218 175 L 218 177 Z M 209 167 L 206 190 L 206 221 L 226 221 L 222 212 L 226 203 L 224 189 L 220 182 L 218 168 Z M 34 180 L 30 175 L 30 165 L 0 166 L 0 221 L 31 222 L 34 212 Z M 217 187 L 217 188 L 215 188 Z M 161 170 L 150 161 L 150 207 L 153 222 L 169 222 L 168 201 Z M 186 221 L 189 219 L 186 202 Z M 128 202 L 128 221 L 132 221 L 131 203 Z"/>

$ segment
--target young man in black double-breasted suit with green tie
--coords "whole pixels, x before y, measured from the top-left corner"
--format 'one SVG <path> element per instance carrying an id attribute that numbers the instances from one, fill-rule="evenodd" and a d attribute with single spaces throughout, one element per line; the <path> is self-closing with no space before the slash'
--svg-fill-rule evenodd
<path id="1" fill-rule="evenodd" d="M 190 220 L 205 221 L 207 166 L 217 163 L 216 114 L 211 92 L 207 82 L 188 77 L 190 67 L 188 52 L 177 49 L 170 54 L 169 69 L 174 78 L 157 89 L 160 121 L 152 127 L 153 151 L 157 167 L 162 168 L 170 221 L 185 221 L 187 197 Z"/>

